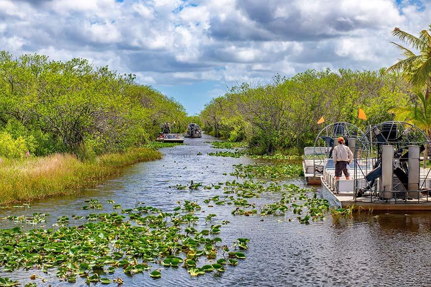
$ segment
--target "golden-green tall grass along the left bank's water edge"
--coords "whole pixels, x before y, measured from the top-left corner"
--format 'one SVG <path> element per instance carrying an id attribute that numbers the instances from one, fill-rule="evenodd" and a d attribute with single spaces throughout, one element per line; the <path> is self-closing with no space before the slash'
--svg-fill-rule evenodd
<path id="1" fill-rule="evenodd" d="M 69 154 L 1 159 L 0 205 L 74 193 L 120 174 L 122 167 L 161 157 L 162 154 L 156 150 L 135 148 L 91 161 L 80 161 Z"/>

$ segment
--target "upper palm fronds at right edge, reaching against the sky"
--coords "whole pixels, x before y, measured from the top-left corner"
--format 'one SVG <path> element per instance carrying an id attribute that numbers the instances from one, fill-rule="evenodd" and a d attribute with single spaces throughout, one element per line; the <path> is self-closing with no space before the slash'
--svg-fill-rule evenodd
<path id="1" fill-rule="evenodd" d="M 410 45 L 419 53 L 415 54 L 410 49 L 391 42 L 397 46 L 405 58 L 399 59 L 397 63 L 386 70 L 403 72 L 416 90 L 422 90 L 425 87 L 425 99 L 427 100 L 431 93 L 431 35 L 429 31 L 431 31 L 431 24 L 428 26 L 428 30 L 419 32 L 419 37 L 404 32 L 400 28 L 395 28 L 392 35 L 397 36 L 402 42 Z"/>

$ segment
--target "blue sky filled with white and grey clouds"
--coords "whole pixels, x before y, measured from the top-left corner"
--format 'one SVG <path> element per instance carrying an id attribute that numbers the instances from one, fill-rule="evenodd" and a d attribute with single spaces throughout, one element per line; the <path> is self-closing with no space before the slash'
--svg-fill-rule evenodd
<path id="1" fill-rule="evenodd" d="M 244 81 L 388 67 L 393 28 L 430 23 L 431 0 L 0 0 L 0 50 L 133 73 L 196 114 Z"/>

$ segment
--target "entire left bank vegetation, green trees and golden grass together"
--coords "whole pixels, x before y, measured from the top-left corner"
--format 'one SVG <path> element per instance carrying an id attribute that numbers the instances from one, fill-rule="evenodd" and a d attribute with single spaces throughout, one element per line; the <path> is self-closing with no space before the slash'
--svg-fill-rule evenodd
<path id="1" fill-rule="evenodd" d="M 135 78 L 81 58 L 0 51 L 0 206 L 74 193 L 161 158 L 166 145 L 152 140 L 162 125 L 184 132 L 194 117 Z"/>

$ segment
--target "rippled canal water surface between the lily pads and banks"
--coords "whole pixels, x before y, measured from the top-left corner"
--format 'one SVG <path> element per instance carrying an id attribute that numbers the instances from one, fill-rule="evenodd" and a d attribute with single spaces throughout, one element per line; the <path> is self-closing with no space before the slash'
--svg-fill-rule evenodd
<path id="1" fill-rule="evenodd" d="M 216 224 L 222 225 L 218 235 L 223 244 L 232 246 L 239 237 L 249 238 L 246 259 L 237 266 L 227 266 L 224 273 L 207 273 L 190 277 L 185 268 L 162 269 L 161 279 L 152 279 L 148 272 L 128 277 L 118 269 L 108 278 L 124 280 L 123 286 L 430 286 L 431 216 L 426 213 L 374 213 L 355 215 L 353 219 L 335 219 L 328 215 L 324 221 L 310 222 L 310 225 L 289 222 L 285 216 L 234 216 L 233 206 L 208 207 L 203 200 L 222 194 L 220 190 L 177 190 L 169 186 L 188 184 L 191 180 L 211 183 L 234 180 L 229 176 L 233 164 L 252 164 L 256 160 L 241 157 L 212 157 L 215 152 L 203 138 L 186 139 L 187 145 L 164 148 L 162 160 L 143 162 L 124 170 L 121 177 L 111 179 L 95 189 L 83 190 L 75 196 L 65 196 L 34 202 L 30 208 L 17 207 L 1 209 L 0 217 L 8 215 L 29 215 L 34 212 L 50 213 L 46 223 L 38 227 L 52 227 L 62 215 L 87 215 L 81 210 L 85 200 L 98 199 L 108 212 L 111 206 L 107 200 L 115 200 L 122 208 L 133 208 L 135 203 L 144 202 L 153 207 L 170 211 L 177 201 L 193 200 L 205 214 L 216 213 Z M 223 175 L 227 173 L 228 175 Z M 302 178 L 289 183 L 305 185 Z M 319 194 L 319 190 L 318 190 Z M 259 208 L 265 203 L 279 199 L 278 194 L 262 194 L 259 199 L 250 199 Z M 91 211 L 94 212 L 94 211 Z M 75 222 L 79 224 L 79 222 Z M 23 226 L 23 223 L 0 220 L 1 228 Z M 198 221 L 196 228 L 204 228 L 205 220 Z M 208 228 L 208 226 L 207 226 Z M 207 262 L 199 261 L 199 265 Z M 157 266 L 158 267 L 158 266 Z M 54 272 L 52 272 L 54 273 Z M 83 280 L 75 284 L 59 282 L 55 275 L 37 270 L 1 273 L 1 277 L 30 282 L 29 276 L 38 274 L 38 286 L 86 286 Z M 100 283 L 99 283 L 100 285 Z M 112 284 L 112 286 L 115 286 Z"/>

